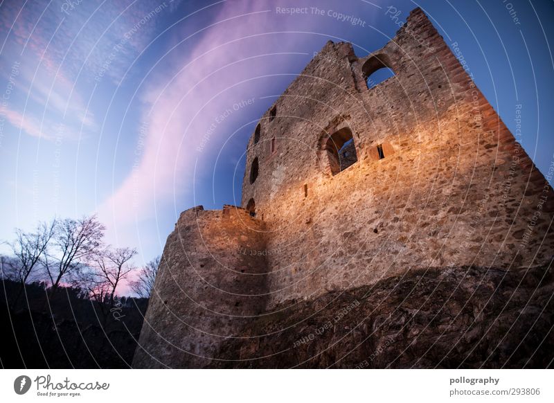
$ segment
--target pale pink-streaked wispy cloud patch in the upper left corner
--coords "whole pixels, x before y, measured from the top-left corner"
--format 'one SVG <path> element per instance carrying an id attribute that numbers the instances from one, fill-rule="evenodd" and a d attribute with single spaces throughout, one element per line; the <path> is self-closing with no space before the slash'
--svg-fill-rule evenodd
<path id="1" fill-rule="evenodd" d="M 86 98 L 100 82 L 99 73 L 105 84 L 120 84 L 152 39 L 157 17 L 169 12 L 172 3 L 83 1 L 64 8 L 67 2 L 61 0 L 4 1 L 0 31 L 6 37 L 0 39 L 6 40 L 0 40 L 0 62 L 21 66 L 10 98 L 10 121 L 40 138 L 49 137 L 45 132 L 54 123 L 63 123 L 68 132 L 98 133 Z M 114 46 L 118 52 L 109 60 Z"/>

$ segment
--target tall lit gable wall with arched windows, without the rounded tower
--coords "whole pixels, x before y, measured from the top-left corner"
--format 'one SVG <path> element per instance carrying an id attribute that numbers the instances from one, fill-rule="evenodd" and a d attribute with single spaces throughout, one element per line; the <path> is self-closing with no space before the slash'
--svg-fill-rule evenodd
<path id="1" fill-rule="evenodd" d="M 265 141 L 250 144 L 260 175 L 244 181 L 243 203 L 253 197 L 267 224 L 270 306 L 412 267 L 548 260 L 552 237 L 535 252 L 551 221 L 551 190 L 535 236 L 522 242 L 544 177 L 421 10 L 375 52 L 388 55 L 395 77 L 367 89 L 361 68 L 369 56 L 355 60 L 351 50 L 327 44 L 276 102 L 277 117 L 262 118 Z M 354 133 L 358 163 L 332 177 L 321 136 L 343 125 Z M 378 160 L 381 143 L 386 158 Z"/>

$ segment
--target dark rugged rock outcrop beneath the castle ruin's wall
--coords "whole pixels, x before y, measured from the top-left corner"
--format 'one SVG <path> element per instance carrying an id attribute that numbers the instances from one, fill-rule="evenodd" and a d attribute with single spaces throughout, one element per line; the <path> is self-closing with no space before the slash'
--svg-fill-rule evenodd
<path id="1" fill-rule="evenodd" d="M 553 296 L 548 267 L 410 271 L 280 306 L 226 341 L 212 366 L 546 368 Z"/>

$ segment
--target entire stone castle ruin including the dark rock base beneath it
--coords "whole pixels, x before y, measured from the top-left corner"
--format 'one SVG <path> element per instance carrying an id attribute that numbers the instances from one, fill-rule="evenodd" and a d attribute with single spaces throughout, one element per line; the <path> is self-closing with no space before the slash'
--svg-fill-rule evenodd
<path id="1" fill-rule="evenodd" d="M 554 193 L 460 60 L 419 8 L 370 55 L 325 44 L 242 207 L 179 217 L 134 366 L 549 365 Z"/>

